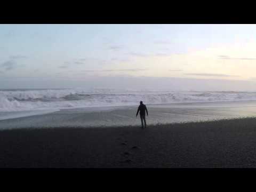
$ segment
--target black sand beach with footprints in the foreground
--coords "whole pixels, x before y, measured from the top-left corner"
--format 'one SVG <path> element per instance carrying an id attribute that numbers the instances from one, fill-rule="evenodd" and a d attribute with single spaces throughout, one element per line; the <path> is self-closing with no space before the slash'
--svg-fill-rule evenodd
<path id="1" fill-rule="evenodd" d="M 0 167 L 256 167 L 256 119 L 0 132 Z"/>

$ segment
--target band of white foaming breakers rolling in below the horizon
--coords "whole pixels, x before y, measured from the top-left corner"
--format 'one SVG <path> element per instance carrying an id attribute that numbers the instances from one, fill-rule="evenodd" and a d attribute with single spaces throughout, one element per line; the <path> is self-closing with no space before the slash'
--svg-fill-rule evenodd
<path id="1" fill-rule="evenodd" d="M 256 92 L 159 90 L 0 90 L 0 111 L 45 110 L 146 104 L 256 100 Z"/>

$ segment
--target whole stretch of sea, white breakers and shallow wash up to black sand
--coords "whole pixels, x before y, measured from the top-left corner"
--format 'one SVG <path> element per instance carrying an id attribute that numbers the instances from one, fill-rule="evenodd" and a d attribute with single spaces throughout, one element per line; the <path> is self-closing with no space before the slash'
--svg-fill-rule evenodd
<path id="1" fill-rule="evenodd" d="M 0 90 L 0 129 L 137 125 L 142 100 L 148 124 L 254 116 L 256 92 L 111 89 Z"/>

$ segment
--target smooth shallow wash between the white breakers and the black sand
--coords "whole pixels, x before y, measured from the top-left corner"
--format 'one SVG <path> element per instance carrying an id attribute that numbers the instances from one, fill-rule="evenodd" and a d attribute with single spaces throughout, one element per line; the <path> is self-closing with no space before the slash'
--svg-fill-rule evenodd
<path id="1" fill-rule="evenodd" d="M 147 103 L 146 103 L 147 104 Z M 138 106 L 61 109 L 53 113 L 0 120 L 0 129 L 22 127 L 140 126 Z M 208 121 L 256 116 L 256 101 L 221 101 L 147 105 L 147 124 Z"/>

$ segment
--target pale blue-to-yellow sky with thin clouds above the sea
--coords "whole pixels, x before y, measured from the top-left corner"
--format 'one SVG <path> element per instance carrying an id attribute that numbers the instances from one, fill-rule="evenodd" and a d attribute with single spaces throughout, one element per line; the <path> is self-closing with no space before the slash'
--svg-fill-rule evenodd
<path id="1" fill-rule="evenodd" d="M 0 42 L 0 88 L 256 79 L 256 25 L 0 25 Z"/>

